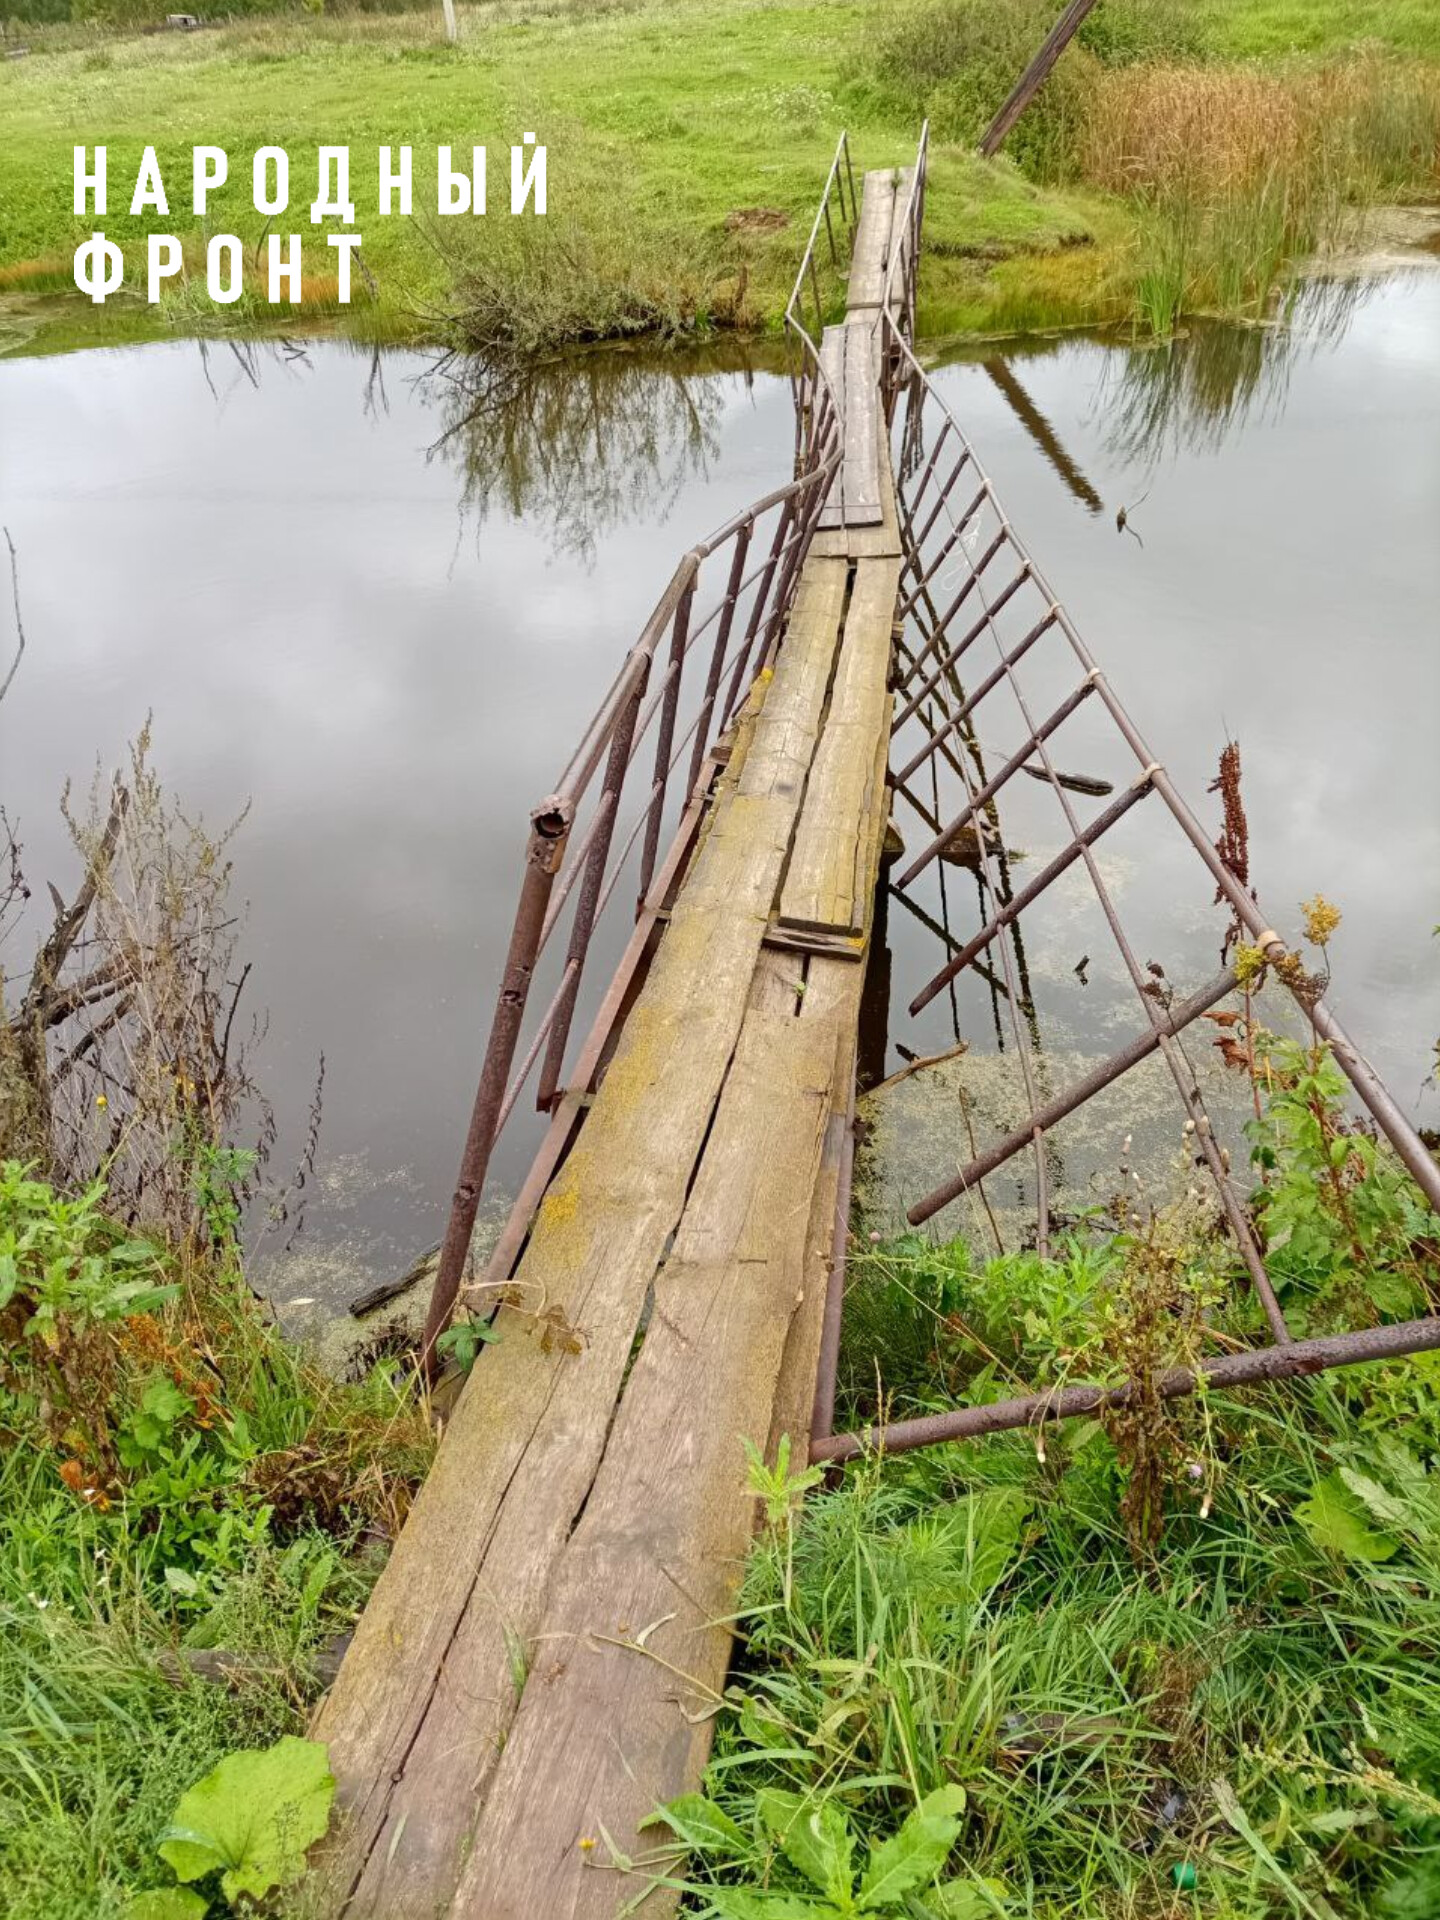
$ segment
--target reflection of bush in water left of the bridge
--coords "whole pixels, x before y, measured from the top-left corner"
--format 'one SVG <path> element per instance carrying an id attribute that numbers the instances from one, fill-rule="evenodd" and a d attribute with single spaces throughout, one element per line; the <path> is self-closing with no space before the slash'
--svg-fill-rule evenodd
<path id="1" fill-rule="evenodd" d="M 419 390 L 440 407 L 430 455 L 459 465 L 463 505 L 540 520 L 582 559 L 622 520 L 664 522 L 718 451 L 724 380 L 672 355 L 497 365 L 445 353 Z"/>

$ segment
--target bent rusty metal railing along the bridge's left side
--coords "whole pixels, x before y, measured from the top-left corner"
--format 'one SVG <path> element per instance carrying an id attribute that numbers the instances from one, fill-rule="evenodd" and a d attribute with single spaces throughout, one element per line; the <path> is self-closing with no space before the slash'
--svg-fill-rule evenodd
<path id="1" fill-rule="evenodd" d="M 841 457 L 835 396 L 820 365 L 828 305 L 822 282 L 849 261 L 854 215 L 854 175 L 841 134 L 785 311 L 795 476 L 684 555 L 555 791 L 530 814 L 520 897 L 424 1323 L 422 1356 L 430 1369 L 465 1277 L 495 1142 L 534 1079 L 536 1106 L 551 1114 L 551 1127 L 488 1275 L 507 1273 L 524 1242 L 684 872 L 724 760 L 726 732 L 755 674 L 781 641 L 801 563 Z M 634 927 L 576 1052 L 572 1027 L 586 968 L 616 895 L 632 904 Z M 532 1018 L 536 975 L 547 954 L 559 950 L 561 933 L 557 979 Z"/>

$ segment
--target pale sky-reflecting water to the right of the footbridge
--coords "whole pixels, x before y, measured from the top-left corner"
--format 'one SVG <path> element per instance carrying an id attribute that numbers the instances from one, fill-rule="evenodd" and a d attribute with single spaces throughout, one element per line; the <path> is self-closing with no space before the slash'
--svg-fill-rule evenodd
<path id="1" fill-rule="evenodd" d="M 983 359 L 945 367 L 939 386 L 1206 824 L 1217 826 L 1206 787 L 1219 749 L 1227 733 L 1240 741 L 1261 902 L 1288 933 L 1302 899 L 1323 891 L 1342 906 L 1332 1004 L 1402 1104 L 1432 1123 L 1440 1102 L 1423 1081 L 1440 1033 L 1440 273 L 1319 292 L 1292 334 L 1198 328 L 1175 348 L 1135 351 L 1046 342 L 1006 371 L 1023 388 L 1020 407 Z M 1037 649 L 1041 685 L 1048 664 Z M 1035 712 L 1073 680 L 1073 664 L 1060 666 Z M 981 726 L 987 747 L 1018 745 L 993 712 L 1004 707 L 981 708 L 996 733 Z M 1098 743 L 1102 730 L 1089 732 Z M 1123 758 L 1089 764 L 1085 716 L 1062 737 L 1060 766 L 1129 778 Z M 1048 797 L 1025 781 L 1008 789 L 1002 820 L 1035 858 L 1060 845 Z M 1198 983 L 1217 958 L 1210 889 L 1179 835 L 1152 829 L 1148 810 L 1131 816 L 1102 864 L 1144 952 L 1169 956 L 1171 973 L 1188 912 Z M 973 883 L 956 877 L 973 914 Z M 1041 1004 L 1050 987 L 1050 1044 L 1096 1037 L 1081 1031 L 1096 996 L 1077 1014 L 1069 972 L 1083 950 L 1108 956 L 1104 929 L 1081 918 L 1085 895 L 1075 872 L 1025 922 Z M 900 987 L 904 998 L 914 991 L 906 966 L 933 972 L 935 956 L 900 931 L 897 956 L 899 1000 Z M 943 1016 L 937 1004 L 922 1050 L 943 1044 Z M 1112 1043 L 1135 1020 L 1129 1002 Z"/>

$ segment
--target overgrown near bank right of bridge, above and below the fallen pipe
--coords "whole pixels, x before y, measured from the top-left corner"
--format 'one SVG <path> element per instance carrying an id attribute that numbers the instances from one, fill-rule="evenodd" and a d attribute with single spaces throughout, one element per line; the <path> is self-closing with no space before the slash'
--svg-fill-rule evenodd
<path id="1" fill-rule="evenodd" d="M 1254 1043 L 1252 1212 L 1292 1325 L 1432 1311 L 1440 1221 L 1323 1052 Z M 657 1824 L 637 1862 L 697 1912 L 1440 1910 L 1440 1361 L 1165 1404 L 1160 1375 L 1258 1309 L 1202 1210 L 1117 1212 L 1050 1260 L 912 1235 L 852 1261 L 845 1425 L 1140 1390 L 829 1490 L 753 1475 L 743 1653 L 707 1793 L 666 1816 L 687 1860 Z"/>

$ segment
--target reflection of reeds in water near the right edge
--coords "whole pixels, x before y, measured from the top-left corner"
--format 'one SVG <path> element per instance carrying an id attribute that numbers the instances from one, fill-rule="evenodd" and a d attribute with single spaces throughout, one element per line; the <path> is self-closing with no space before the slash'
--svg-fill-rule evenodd
<path id="1" fill-rule="evenodd" d="M 1217 453 L 1250 419 L 1273 419 L 1296 365 L 1340 344 L 1373 284 L 1306 280 L 1281 324 L 1190 321 L 1173 340 L 1112 355 L 1098 396 L 1110 451 L 1140 465 Z"/>

